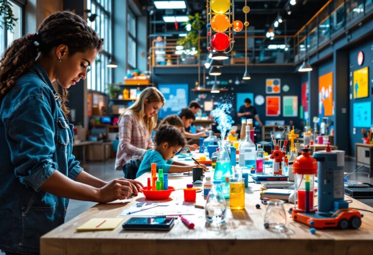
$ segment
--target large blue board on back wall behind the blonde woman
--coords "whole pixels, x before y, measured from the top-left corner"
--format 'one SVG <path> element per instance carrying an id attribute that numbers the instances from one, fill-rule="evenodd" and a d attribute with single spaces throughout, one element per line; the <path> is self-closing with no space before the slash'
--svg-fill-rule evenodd
<path id="1" fill-rule="evenodd" d="M 158 113 L 160 119 L 170 114 L 178 114 L 181 109 L 188 106 L 187 84 L 159 84 L 158 89 L 166 99 L 165 105 Z"/>

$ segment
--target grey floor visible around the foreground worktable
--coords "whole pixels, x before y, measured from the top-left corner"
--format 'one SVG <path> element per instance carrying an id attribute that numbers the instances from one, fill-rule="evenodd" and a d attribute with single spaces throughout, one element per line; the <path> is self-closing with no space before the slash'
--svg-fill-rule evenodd
<path id="1" fill-rule="evenodd" d="M 88 163 L 82 166 L 85 171 L 88 173 L 100 178 L 104 181 L 110 181 L 115 178 L 123 177 L 122 171 L 114 170 L 115 159 L 109 159 L 106 162 L 97 162 L 97 163 Z M 352 172 L 355 170 L 355 158 L 346 157 L 345 159 L 345 172 Z M 358 172 L 369 172 L 367 167 L 363 167 Z M 351 174 L 349 180 L 358 180 L 360 182 L 368 182 L 366 174 Z M 369 178 L 369 183 L 373 184 L 373 178 Z M 368 204 L 373 207 L 373 199 L 363 199 L 360 200 L 362 203 Z M 92 207 L 94 202 L 85 202 L 85 201 L 77 201 L 77 200 L 70 200 L 68 205 L 68 212 L 66 215 L 66 221 L 71 220 L 72 218 L 78 216 L 79 214 L 83 213 L 90 207 Z M 0 252 L 0 255 L 4 255 Z"/>

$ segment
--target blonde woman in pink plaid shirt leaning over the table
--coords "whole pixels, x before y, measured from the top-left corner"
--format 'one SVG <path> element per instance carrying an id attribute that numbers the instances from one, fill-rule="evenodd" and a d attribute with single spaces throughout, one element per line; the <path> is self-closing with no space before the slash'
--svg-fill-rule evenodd
<path id="1" fill-rule="evenodd" d="M 123 170 L 125 178 L 136 178 L 142 157 L 147 150 L 153 149 L 152 130 L 157 125 L 158 111 L 164 104 L 162 93 L 155 87 L 148 87 L 120 116 L 115 169 Z"/>

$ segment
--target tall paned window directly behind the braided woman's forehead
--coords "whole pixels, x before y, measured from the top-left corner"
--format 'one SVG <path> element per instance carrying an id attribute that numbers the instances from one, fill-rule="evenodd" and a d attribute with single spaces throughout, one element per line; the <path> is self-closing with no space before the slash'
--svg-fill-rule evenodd
<path id="1" fill-rule="evenodd" d="M 91 11 L 88 13 L 88 25 L 104 39 L 102 52 L 97 55 L 87 74 L 87 87 L 105 93 L 107 85 L 112 82 L 112 68 L 106 67 L 112 53 L 112 0 L 87 0 L 87 9 Z"/>

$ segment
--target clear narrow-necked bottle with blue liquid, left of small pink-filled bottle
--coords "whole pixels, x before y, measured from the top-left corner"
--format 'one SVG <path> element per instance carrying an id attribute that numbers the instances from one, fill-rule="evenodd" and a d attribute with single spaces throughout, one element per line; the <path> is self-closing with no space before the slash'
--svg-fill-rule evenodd
<path id="1" fill-rule="evenodd" d="M 255 144 L 250 139 L 250 126 L 246 126 L 245 139 L 239 144 L 239 166 L 251 169 L 255 167 Z"/>

